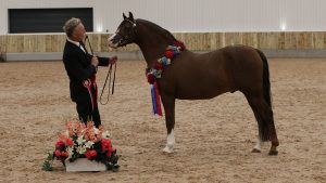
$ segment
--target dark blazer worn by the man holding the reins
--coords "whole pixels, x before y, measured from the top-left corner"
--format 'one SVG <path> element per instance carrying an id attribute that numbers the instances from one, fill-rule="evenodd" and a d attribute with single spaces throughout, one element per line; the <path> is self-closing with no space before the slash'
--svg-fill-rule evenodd
<path id="1" fill-rule="evenodd" d="M 83 44 L 84 45 L 84 44 Z M 86 48 L 84 47 L 84 50 Z M 90 64 L 92 55 L 87 50 L 86 53 L 76 44 L 66 41 L 63 51 L 63 63 L 70 78 L 71 97 L 74 102 L 89 99 L 88 90 L 83 86 L 83 81 L 89 79 L 97 73 L 97 68 Z M 98 57 L 99 66 L 108 66 L 108 57 Z"/>

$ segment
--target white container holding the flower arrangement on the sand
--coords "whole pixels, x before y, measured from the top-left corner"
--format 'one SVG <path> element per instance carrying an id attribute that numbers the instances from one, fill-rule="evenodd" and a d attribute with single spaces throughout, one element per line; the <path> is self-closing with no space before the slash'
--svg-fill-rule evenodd
<path id="1" fill-rule="evenodd" d="M 97 162 L 95 160 L 88 160 L 87 158 L 78 158 L 73 162 L 65 160 L 65 171 L 76 172 L 76 171 L 105 171 L 106 166 L 102 162 Z"/>

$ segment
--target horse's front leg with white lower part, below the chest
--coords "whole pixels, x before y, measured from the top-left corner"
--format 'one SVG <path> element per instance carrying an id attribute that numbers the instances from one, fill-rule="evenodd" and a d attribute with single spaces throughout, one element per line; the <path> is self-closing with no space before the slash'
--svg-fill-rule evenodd
<path id="1" fill-rule="evenodd" d="M 173 153 L 175 145 L 174 123 L 175 123 L 175 97 L 163 94 L 162 103 L 165 112 L 165 125 L 167 129 L 167 141 L 163 152 Z"/>

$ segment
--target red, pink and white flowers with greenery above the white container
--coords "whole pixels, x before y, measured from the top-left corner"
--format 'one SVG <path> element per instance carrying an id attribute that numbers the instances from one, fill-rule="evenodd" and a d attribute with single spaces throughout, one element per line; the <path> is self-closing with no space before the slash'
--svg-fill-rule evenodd
<path id="1" fill-rule="evenodd" d="M 87 125 L 68 121 L 66 128 L 66 132 L 59 135 L 54 152 L 49 153 L 45 160 L 43 170 L 51 171 L 54 159 L 65 166 L 65 161 L 73 162 L 78 158 L 102 162 L 108 170 L 118 170 L 120 156 L 112 146 L 110 133 L 104 131 L 103 126 L 96 128 L 93 121 L 88 121 Z"/>

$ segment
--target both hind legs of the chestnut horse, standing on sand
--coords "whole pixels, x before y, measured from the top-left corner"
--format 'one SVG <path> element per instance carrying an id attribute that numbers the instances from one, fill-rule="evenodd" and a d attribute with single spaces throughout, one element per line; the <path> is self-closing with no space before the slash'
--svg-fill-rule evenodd
<path id="1" fill-rule="evenodd" d="M 276 147 L 278 146 L 279 142 L 274 126 L 273 110 L 271 106 L 267 105 L 262 96 L 252 96 L 248 94 L 244 95 L 259 125 L 259 141 L 254 146 L 253 152 L 260 152 L 261 143 L 271 140 L 272 146 L 269 149 L 269 155 L 277 155 L 278 152 Z"/>

